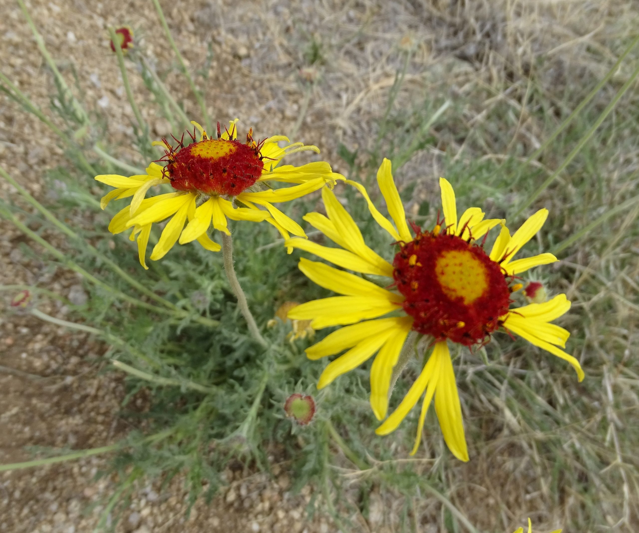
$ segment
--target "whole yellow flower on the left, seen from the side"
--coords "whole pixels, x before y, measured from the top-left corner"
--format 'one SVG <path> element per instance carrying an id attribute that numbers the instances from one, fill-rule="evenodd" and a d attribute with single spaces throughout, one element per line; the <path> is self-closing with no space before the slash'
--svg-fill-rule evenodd
<path id="1" fill-rule="evenodd" d="M 104 209 L 112 199 L 133 197 L 131 204 L 119 211 L 109 224 L 114 234 L 132 228 L 130 239 L 137 237 L 140 263 L 146 269 L 146 246 L 151 233 L 151 225 L 169 216 L 173 217 L 162 230 L 158 243 L 151 252 L 151 259 L 161 259 L 173 245 L 198 241 L 206 250 L 219 251 L 220 245 L 208 237 L 213 228 L 230 235 L 227 218 L 231 220 L 266 220 L 275 226 L 284 239 L 293 235 L 305 237 L 298 223 L 282 213 L 273 202 L 288 202 L 323 187 L 333 185 L 337 179 L 344 179 L 332 172 L 324 161 L 307 163 L 301 167 L 293 165 L 277 166 L 285 156 L 304 150 L 319 153 L 315 146 L 304 146 L 301 142 L 279 147 L 278 142 L 288 141 L 283 135 L 269 137 L 255 142 L 252 131 L 247 133 L 246 142 L 237 140 L 236 122 L 231 121 L 230 131 L 224 133 L 217 126 L 217 139 L 211 139 L 206 131 L 192 123 L 200 131 L 196 141 L 195 130 L 191 144 L 182 140 L 177 147 L 166 139 L 154 141 L 162 146 L 166 161 L 162 167 L 151 163 L 146 174 L 141 176 L 118 176 L 104 174 L 96 176 L 97 181 L 116 187 L 102 198 Z M 286 188 L 265 188 L 273 181 L 296 184 Z M 147 191 L 154 185 L 168 184 L 174 192 L 147 198 Z M 238 207 L 236 203 L 246 207 Z M 265 207 L 261 209 L 260 207 Z M 185 222 L 189 220 L 187 227 Z"/>

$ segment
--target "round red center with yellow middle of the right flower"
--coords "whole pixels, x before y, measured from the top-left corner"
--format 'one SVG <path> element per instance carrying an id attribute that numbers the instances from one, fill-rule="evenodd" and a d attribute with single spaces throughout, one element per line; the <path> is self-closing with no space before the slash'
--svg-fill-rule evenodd
<path id="1" fill-rule="evenodd" d="M 501 267 L 461 237 L 418 230 L 393 266 L 413 329 L 436 341 L 486 343 L 508 311 L 511 291 Z"/>

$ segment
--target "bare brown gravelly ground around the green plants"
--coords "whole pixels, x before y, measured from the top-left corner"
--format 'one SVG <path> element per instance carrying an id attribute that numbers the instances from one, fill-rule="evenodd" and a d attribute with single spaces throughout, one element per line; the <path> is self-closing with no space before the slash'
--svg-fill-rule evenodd
<path id="1" fill-rule="evenodd" d="M 479 45 L 486 39 L 501 39 L 502 44 L 513 39 L 509 34 L 496 37 L 494 33 L 488 38 L 490 32 L 481 28 L 474 36 L 470 30 L 465 34 L 438 14 L 436 2 L 162 4 L 190 68 L 201 68 L 206 42 L 212 42 L 213 60 L 206 89 L 212 116 L 223 121 L 240 116 L 244 124 L 255 126 L 258 137 L 289 133 L 295 128 L 304 106 L 304 87 L 299 78 L 304 52 L 315 36 L 334 45 L 339 53 L 330 57 L 330 73 L 325 73 L 323 83 L 310 94 L 309 111 L 299 128 L 301 139 L 296 140 L 321 147 L 338 171 L 339 158 L 334 155 L 337 141 L 350 149 L 366 142 L 371 121 L 383 110 L 394 81 L 397 64 L 389 58 L 403 40 L 417 40 L 413 66 L 422 68 L 424 74 L 408 75 L 400 104 L 403 98 L 410 100 L 411 94 L 426 91 L 433 80 L 444 74 L 452 80 L 455 90 L 461 90 L 475 76 L 475 68 L 483 68 L 488 75 L 500 75 L 504 56 L 497 52 L 480 54 Z M 32 0 L 27 6 L 63 75 L 72 80 L 73 71 L 77 73 L 89 107 L 109 117 L 111 142 L 118 144 L 123 158 L 134 158 L 134 150 L 127 147 L 132 137 L 129 124 L 133 114 L 108 48 L 105 28 L 122 24 L 134 27 L 140 45 L 158 65 L 174 64 L 153 4 L 143 0 Z M 572 28 L 566 13 L 558 10 L 549 24 L 550 33 L 560 29 L 553 33 L 560 35 L 555 45 L 568 43 L 557 50 L 557 57 L 570 61 L 576 53 L 571 43 L 590 28 Z M 622 14 L 619 12 L 620 17 Z M 595 20 L 591 23 L 599 24 Z M 296 38 L 291 39 L 291 35 Z M 295 41 L 298 47 L 291 46 Z M 497 41 L 491 41 L 491 45 L 497 47 Z M 530 46 L 530 42 L 522 44 L 528 52 L 526 47 Z M 43 67 L 42 56 L 17 4 L 9 0 L 0 2 L 0 66 L 35 103 L 47 109 L 54 89 L 52 76 Z M 591 67 L 597 69 L 596 65 L 588 68 Z M 166 121 L 144 109 L 147 93 L 133 72 L 130 77 L 153 133 L 166 135 Z M 187 111 L 196 114 L 189 88 L 176 69 L 167 84 L 176 98 L 185 102 Z M 277 125 L 275 131 L 272 124 Z M 40 181 L 43 169 L 64 164 L 52 133 L 4 96 L 0 96 L 0 164 L 40 199 L 47 194 Z M 426 164 L 436 174 L 436 160 L 430 156 L 417 158 L 408 166 Z M 9 199 L 15 193 L 3 182 L 0 191 Z M 47 238 L 63 247 L 59 236 L 51 234 Z M 38 257 L 22 251 L 22 242 L 26 242 L 26 237 L 0 221 L 0 283 L 44 284 L 71 301 L 86 297 L 75 274 L 52 270 Z M 0 297 L 5 298 L 6 306 L 6 294 L 0 293 Z M 40 308 L 50 315 L 65 317 L 64 306 L 49 305 L 42 304 Z M 88 334 L 69 333 L 30 315 L 0 318 L 1 463 L 29 459 L 25 446 L 84 449 L 104 446 L 125 435 L 130 427 L 117 415 L 124 396 L 121 379 L 114 373 L 101 373 L 95 363 L 104 350 Z M 111 488 L 110 479 L 95 481 L 95 474 L 105 461 L 97 456 L 1 474 L 0 532 L 93 530 Z M 321 516 L 307 518 L 305 505 L 311 500 L 310 491 L 291 495 L 286 472 L 279 467 L 274 471 L 275 479 L 236 478 L 233 472 L 227 472 L 229 489 L 210 506 L 198 502 L 189 517 L 185 514 L 186 492 L 181 479 L 174 479 L 162 495 L 158 487 L 148 486 L 135 493 L 130 511 L 118 529 L 135 533 L 335 530 Z M 374 497 L 372 500 L 369 520 L 355 517 L 356 522 L 361 523 L 362 531 L 392 531 L 392 525 L 381 525 L 383 512 L 378 507 L 382 507 L 382 502 Z M 422 530 L 434 533 L 428 525 Z"/>

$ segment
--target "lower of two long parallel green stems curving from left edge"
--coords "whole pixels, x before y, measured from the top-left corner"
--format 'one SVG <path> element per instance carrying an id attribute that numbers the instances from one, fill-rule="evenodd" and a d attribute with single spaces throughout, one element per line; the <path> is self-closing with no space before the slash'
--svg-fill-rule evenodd
<path id="1" fill-rule="evenodd" d="M 182 311 L 180 309 L 170 310 L 170 309 L 165 309 L 165 308 L 162 308 L 162 307 L 155 306 L 153 304 L 148 304 L 148 303 L 143 302 L 143 301 L 141 301 L 141 300 L 139 300 L 137 298 L 134 298 L 132 296 L 128 296 L 128 294 L 125 294 L 124 292 L 121 292 L 118 289 L 114 289 L 113 287 L 111 287 L 111 285 L 108 285 L 107 283 L 104 283 L 101 280 L 98 280 L 98 278 L 96 278 L 92 274 L 89 274 L 86 270 L 84 270 L 77 263 L 73 262 L 71 259 L 66 257 L 66 255 L 63 254 L 61 251 L 57 250 L 56 248 L 54 248 L 54 246 L 52 246 L 51 244 L 47 243 L 47 241 L 45 241 L 45 239 L 40 237 L 38 234 L 36 234 L 36 232 L 34 232 L 31 229 L 29 229 L 20 220 L 18 220 L 18 218 L 11 211 L 6 209 L 6 207 L 0 206 L 0 214 L 2 216 L 4 216 L 4 218 L 6 218 L 8 221 L 12 222 L 13 225 L 15 225 L 15 227 L 17 227 L 19 230 L 21 230 L 24 234 L 26 234 L 27 236 L 31 237 L 31 239 L 36 241 L 36 243 L 40 244 L 41 246 L 43 246 L 43 248 L 48 250 L 49 253 L 51 253 L 51 255 L 53 255 L 58 260 L 60 260 L 60 262 L 62 264 L 64 264 L 67 268 L 77 272 L 78 274 L 81 274 L 81 276 L 86 278 L 86 280 L 88 280 L 89 282 L 93 283 L 94 285 L 106 290 L 107 292 L 110 292 L 113 296 L 118 297 L 119 299 L 123 299 L 123 300 L 127 301 L 128 303 L 132 303 L 132 304 L 134 304 L 137 307 L 148 309 L 150 311 L 153 311 L 155 313 L 159 313 L 159 314 L 162 314 L 162 315 L 173 315 L 173 316 L 181 317 L 181 318 L 187 318 L 187 317 L 191 316 L 189 313 L 187 313 L 185 311 Z M 210 327 L 217 327 L 220 324 L 218 320 L 208 319 L 208 318 L 202 317 L 200 315 L 193 316 L 192 319 L 195 320 L 196 322 L 199 322 L 200 324 L 204 324 L 205 326 L 210 326 Z"/>

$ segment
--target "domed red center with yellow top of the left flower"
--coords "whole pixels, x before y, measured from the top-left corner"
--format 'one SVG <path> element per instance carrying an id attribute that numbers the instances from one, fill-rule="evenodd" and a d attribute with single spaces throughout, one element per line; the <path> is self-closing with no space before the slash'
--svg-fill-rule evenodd
<path id="1" fill-rule="evenodd" d="M 180 142 L 177 151 L 172 147 L 167 150 L 164 172 L 178 191 L 236 196 L 258 181 L 264 168 L 261 144 L 253 142 L 250 135 L 246 144 L 206 136 L 188 146 Z"/>

